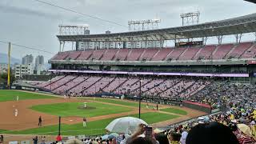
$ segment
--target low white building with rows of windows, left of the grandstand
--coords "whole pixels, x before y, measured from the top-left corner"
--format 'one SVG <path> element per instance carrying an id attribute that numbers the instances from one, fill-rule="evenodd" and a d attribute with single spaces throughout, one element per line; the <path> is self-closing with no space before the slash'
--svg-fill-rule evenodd
<path id="1" fill-rule="evenodd" d="M 28 65 L 16 65 L 15 66 L 15 78 L 22 78 L 24 74 L 34 74 L 33 64 Z"/>

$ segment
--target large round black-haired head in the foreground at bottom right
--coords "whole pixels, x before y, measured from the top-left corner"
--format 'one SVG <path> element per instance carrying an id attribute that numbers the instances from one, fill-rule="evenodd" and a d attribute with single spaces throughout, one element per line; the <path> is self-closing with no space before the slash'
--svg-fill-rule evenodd
<path id="1" fill-rule="evenodd" d="M 239 144 L 238 139 L 228 126 L 218 122 L 198 124 L 186 137 L 186 144 Z"/>

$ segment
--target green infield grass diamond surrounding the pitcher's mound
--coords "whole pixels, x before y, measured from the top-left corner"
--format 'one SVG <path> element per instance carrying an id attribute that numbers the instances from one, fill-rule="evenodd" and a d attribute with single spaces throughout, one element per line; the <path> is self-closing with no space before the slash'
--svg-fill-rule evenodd
<path id="1" fill-rule="evenodd" d="M 66 102 L 66 103 L 55 103 L 47 105 L 38 105 L 30 107 L 32 110 L 37 110 L 42 113 L 58 115 L 62 117 L 68 116 L 79 116 L 79 117 L 95 117 L 99 115 L 107 114 L 119 114 L 123 112 L 131 111 L 132 109 L 123 106 L 112 106 L 102 104 L 100 102 L 87 102 L 86 106 L 94 107 L 91 110 L 78 109 L 79 106 L 83 106 L 83 102 Z"/>

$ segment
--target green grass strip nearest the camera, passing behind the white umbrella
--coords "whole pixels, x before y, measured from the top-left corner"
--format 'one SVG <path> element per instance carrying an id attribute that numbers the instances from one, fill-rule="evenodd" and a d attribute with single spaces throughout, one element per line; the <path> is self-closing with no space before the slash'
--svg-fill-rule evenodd
<path id="1" fill-rule="evenodd" d="M 133 114 L 130 116 L 138 116 L 138 114 Z M 177 115 L 171 114 L 161 114 L 161 113 L 145 113 L 141 114 L 141 118 L 146 121 L 148 124 L 152 124 L 155 122 L 162 122 L 172 118 L 178 118 Z M 98 134 L 106 134 L 105 127 L 113 121 L 115 118 L 107 118 L 94 122 L 87 122 L 87 126 L 83 127 L 82 122 L 74 125 L 62 125 L 61 130 L 62 135 L 78 135 L 78 134 L 86 134 L 86 135 L 98 135 Z M 58 134 L 58 125 L 55 126 L 44 126 L 41 128 L 35 128 L 30 130 L 20 130 L 20 131 L 10 131 L 6 132 L 7 134 L 49 134 L 49 135 L 57 135 Z"/>

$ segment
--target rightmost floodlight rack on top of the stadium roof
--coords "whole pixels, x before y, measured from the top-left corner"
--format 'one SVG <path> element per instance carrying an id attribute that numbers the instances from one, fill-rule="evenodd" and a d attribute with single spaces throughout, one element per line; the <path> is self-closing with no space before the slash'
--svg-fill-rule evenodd
<path id="1" fill-rule="evenodd" d="M 190 26 L 199 23 L 200 12 L 180 14 L 180 16 L 182 18 L 182 26 Z"/>

